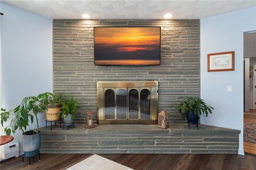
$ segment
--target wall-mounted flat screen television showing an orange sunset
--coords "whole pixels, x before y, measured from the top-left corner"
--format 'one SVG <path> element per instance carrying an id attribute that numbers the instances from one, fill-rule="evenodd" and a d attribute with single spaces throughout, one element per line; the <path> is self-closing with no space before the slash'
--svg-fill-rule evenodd
<path id="1" fill-rule="evenodd" d="M 94 27 L 94 65 L 160 65 L 161 27 Z"/>

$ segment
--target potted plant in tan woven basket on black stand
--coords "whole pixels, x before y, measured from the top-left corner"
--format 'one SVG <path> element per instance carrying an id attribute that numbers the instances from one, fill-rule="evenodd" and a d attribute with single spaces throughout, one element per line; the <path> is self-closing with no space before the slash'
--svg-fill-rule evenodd
<path id="1" fill-rule="evenodd" d="M 63 93 L 52 93 L 49 95 L 49 103 L 46 110 L 46 121 L 58 121 L 60 119 L 60 108 L 63 101 Z"/>

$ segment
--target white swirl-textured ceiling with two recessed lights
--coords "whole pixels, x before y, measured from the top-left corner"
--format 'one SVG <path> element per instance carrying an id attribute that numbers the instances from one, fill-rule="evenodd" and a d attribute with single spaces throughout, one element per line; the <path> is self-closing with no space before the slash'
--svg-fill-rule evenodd
<path id="1" fill-rule="evenodd" d="M 256 0 L 1 0 L 52 19 L 202 19 L 256 6 Z M 3 10 L 1 12 L 4 13 Z"/>

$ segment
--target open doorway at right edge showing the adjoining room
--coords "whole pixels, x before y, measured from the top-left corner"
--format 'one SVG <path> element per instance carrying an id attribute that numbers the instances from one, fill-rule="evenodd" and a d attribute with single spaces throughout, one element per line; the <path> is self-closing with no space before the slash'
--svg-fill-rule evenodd
<path id="1" fill-rule="evenodd" d="M 256 31 L 244 32 L 244 152 L 251 154 L 256 154 L 255 46 Z"/>

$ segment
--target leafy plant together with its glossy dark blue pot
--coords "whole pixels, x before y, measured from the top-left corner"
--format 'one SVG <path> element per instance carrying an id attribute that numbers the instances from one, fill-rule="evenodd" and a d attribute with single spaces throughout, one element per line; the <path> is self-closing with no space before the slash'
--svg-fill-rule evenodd
<path id="1" fill-rule="evenodd" d="M 181 97 L 182 98 L 182 97 Z M 202 113 L 208 116 L 208 113 L 212 114 L 213 107 L 206 105 L 204 100 L 193 97 L 186 97 L 185 101 L 180 101 L 176 106 L 176 111 L 179 111 L 182 115 L 182 118 L 185 119 L 185 116 L 189 124 L 198 124 L 198 120 Z"/>

